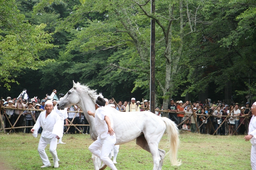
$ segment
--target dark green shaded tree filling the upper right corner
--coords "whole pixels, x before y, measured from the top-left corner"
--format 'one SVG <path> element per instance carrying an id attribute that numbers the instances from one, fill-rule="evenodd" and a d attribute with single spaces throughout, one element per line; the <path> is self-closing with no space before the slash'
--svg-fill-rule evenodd
<path id="1" fill-rule="evenodd" d="M 190 82 L 185 93 L 197 94 L 209 84 L 216 93 L 222 93 L 228 81 L 235 90 L 247 91 L 245 81 L 256 73 L 255 56 L 255 1 L 218 1 L 204 6 L 205 25 L 202 32 L 194 34 L 186 44 L 187 79 Z M 233 95 L 237 101 L 242 101 Z"/>

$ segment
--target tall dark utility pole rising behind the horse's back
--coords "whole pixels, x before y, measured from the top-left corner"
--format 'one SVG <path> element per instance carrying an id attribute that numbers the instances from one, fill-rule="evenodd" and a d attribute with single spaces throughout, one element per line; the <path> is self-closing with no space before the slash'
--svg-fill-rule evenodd
<path id="1" fill-rule="evenodd" d="M 151 0 L 151 15 L 155 14 L 155 0 Z M 150 42 L 150 112 L 155 114 L 155 19 L 151 18 Z"/>

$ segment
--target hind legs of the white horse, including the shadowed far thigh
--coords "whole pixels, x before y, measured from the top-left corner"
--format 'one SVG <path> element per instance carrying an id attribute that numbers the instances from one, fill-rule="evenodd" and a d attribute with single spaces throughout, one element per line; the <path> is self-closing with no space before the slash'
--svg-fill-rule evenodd
<path id="1" fill-rule="evenodd" d="M 154 163 L 153 170 L 161 170 L 165 151 L 158 149 L 158 143 L 150 142 L 149 145 L 144 136 L 139 136 L 138 138 L 136 138 L 136 144 L 141 146 L 144 150 L 151 153 Z M 161 151 L 161 153 L 159 151 Z"/>

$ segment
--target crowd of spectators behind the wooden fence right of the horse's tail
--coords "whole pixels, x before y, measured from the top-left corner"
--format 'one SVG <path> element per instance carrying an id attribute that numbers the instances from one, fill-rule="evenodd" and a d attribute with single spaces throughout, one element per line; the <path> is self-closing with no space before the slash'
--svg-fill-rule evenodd
<path id="1" fill-rule="evenodd" d="M 197 127 L 200 127 L 199 132 L 202 134 L 214 134 L 218 129 L 217 135 L 244 135 L 248 133 L 251 119 L 249 116 L 251 115 L 249 102 L 241 106 L 239 103 L 228 105 L 221 101 L 211 103 L 211 99 L 208 99 L 208 102 L 204 102 L 204 104 L 200 101 L 192 104 L 190 101 L 183 103 L 181 100 L 174 101 L 171 99 L 168 111 L 169 119 L 177 125 L 188 118 L 187 121 L 178 126 L 180 130 L 182 125 L 186 125 L 186 130 L 196 133 Z M 208 118 L 209 115 L 212 116 Z M 226 118 L 227 116 L 229 117 Z M 223 121 L 224 123 L 222 123 Z"/>

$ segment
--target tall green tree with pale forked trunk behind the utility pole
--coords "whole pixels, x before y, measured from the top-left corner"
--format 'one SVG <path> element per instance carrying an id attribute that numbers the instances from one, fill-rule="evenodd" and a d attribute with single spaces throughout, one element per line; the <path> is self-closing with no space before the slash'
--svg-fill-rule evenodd
<path id="1" fill-rule="evenodd" d="M 182 69 L 180 59 L 184 38 L 197 32 L 195 15 L 199 7 L 193 7 L 196 3 L 156 1 L 157 10 L 152 15 L 150 1 L 83 2 L 84 5 L 76 6 L 59 28 L 77 30 L 76 39 L 69 43 L 67 52 L 77 47 L 84 53 L 113 49 L 105 65 L 113 67 L 112 74 L 129 72 L 131 76 L 127 78 L 133 80 L 134 90 L 144 88 L 149 92 L 150 18 L 156 19 L 157 89 L 163 98 L 164 108 L 167 108 L 170 97 L 184 83 L 186 69 Z M 95 12 L 104 13 L 104 20 L 84 17 L 84 14 Z M 81 23 L 83 26 L 76 27 Z M 102 82 L 107 82 L 109 77 L 106 76 Z"/>

